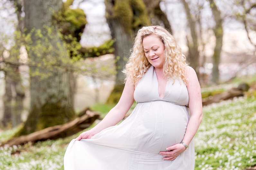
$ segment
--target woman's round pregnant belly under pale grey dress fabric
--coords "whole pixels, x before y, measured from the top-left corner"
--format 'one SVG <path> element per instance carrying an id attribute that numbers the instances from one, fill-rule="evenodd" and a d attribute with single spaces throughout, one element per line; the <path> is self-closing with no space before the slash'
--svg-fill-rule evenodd
<path id="1" fill-rule="evenodd" d="M 147 139 L 145 148 L 151 153 L 166 151 L 166 148 L 180 143 L 188 123 L 188 110 L 164 101 L 139 103 L 140 109 L 135 119 L 141 119 L 139 129 L 143 129 Z"/>

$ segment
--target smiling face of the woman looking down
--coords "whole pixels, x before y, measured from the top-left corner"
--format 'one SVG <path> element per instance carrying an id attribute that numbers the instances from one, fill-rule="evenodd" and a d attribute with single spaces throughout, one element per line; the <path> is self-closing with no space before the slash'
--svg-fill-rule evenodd
<path id="1" fill-rule="evenodd" d="M 155 68 L 162 69 L 164 65 L 164 44 L 156 35 L 146 36 L 142 40 L 145 56 Z"/>

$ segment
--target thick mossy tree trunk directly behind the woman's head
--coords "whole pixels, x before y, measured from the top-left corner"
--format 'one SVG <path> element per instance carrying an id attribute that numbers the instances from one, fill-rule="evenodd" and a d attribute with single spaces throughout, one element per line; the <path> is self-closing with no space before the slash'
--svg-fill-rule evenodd
<path id="1" fill-rule="evenodd" d="M 134 34 L 142 26 L 151 25 L 152 19 L 162 21 L 164 26 L 171 31 L 169 21 L 159 6 L 160 0 L 105 0 L 106 19 L 115 39 L 115 65 L 116 81 L 107 104 L 117 103 L 122 95 L 125 75 L 122 70 L 127 63 L 130 49 L 133 47 Z"/>

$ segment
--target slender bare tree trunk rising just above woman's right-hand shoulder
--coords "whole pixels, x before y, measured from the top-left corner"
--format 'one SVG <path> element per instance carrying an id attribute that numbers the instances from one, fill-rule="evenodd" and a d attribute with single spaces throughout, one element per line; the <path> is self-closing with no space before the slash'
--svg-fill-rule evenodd
<path id="1" fill-rule="evenodd" d="M 184 5 L 185 12 L 187 14 L 188 26 L 191 32 L 192 42 L 190 42 L 187 38 L 187 46 L 188 46 L 188 55 L 187 61 L 190 63 L 190 66 L 195 69 L 197 73 L 197 78 L 199 80 L 199 52 L 198 52 L 198 41 L 197 41 L 197 33 L 196 33 L 196 21 L 191 17 L 191 12 L 188 7 L 188 4 L 185 0 L 181 0 Z"/>

